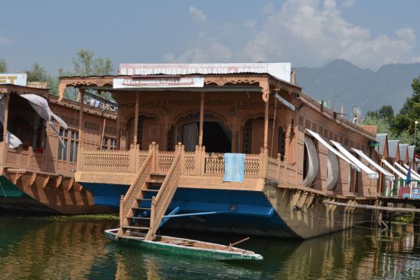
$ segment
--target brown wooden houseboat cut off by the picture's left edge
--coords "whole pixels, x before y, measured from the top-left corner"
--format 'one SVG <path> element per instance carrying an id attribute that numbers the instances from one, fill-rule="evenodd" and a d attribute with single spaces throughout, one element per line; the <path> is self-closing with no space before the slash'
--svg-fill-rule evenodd
<path id="1" fill-rule="evenodd" d="M 48 125 L 22 94 L 36 94 L 48 100 L 50 111 L 64 120 L 68 129 L 56 120 Z M 0 95 L 4 124 L 0 143 L 0 211 L 31 214 L 113 211 L 94 204 L 92 195 L 74 180 L 74 174 L 81 141 L 91 150 L 115 148 L 116 113 L 83 105 L 80 111 L 79 102 L 58 100 L 45 85 L 2 84 Z M 82 112 L 83 123 L 79 122 Z M 20 139 L 20 144 L 10 147 L 8 133 Z"/>

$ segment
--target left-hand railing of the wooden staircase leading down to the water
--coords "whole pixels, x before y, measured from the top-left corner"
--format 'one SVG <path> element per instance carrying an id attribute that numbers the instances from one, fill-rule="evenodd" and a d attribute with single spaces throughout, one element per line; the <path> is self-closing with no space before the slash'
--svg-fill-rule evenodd
<path id="1" fill-rule="evenodd" d="M 137 202 L 137 197 L 139 197 L 141 189 L 146 184 L 146 181 L 151 172 L 153 172 L 154 153 L 155 150 L 153 148 L 149 149 L 148 156 L 144 161 L 144 164 L 141 166 L 136 179 L 134 179 L 134 182 L 128 189 L 124 198 L 120 200 L 120 230 L 118 231 L 119 236 L 123 235 L 123 226 L 129 225 L 127 217 L 133 216 L 132 208 L 135 207 L 134 204 Z"/>

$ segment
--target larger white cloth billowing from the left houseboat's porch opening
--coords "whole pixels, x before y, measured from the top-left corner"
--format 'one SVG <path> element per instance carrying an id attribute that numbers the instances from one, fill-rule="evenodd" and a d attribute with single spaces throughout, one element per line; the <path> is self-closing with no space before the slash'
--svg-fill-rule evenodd
<path id="1" fill-rule="evenodd" d="M 57 136 L 60 144 L 64 147 L 64 141 L 59 136 L 59 133 L 57 132 L 57 129 L 55 126 L 51 123 L 51 118 L 54 118 L 59 125 L 61 125 L 64 130 L 67 130 L 67 124 L 62 120 L 62 118 L 59 118 L 59 116 L 55 115 L 54 112 L 51 111 L 50 106 L 48 106 L 48 102 L 45 98 L 40 97 L 36 94 L 20 94 L 20 97 L 23 97 L 29 101 L 29 104 L 31 104 L 32 108 L 38 113 L 38 115 L 46 120 L 48 122 L 48 125 L 52 128 L 52 132 L 54 132 L 55 136 Z"/>

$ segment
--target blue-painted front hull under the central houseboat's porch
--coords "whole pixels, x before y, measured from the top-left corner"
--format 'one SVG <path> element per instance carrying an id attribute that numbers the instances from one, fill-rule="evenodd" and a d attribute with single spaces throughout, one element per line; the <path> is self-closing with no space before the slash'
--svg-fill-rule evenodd
<path id="1" fill-rule="evenodd" d="M 120 195 L 124 195 L 129 188 L 100 183 L 80 184 L 94 195 L 95 204 L 111 206 L 116 211 L 118 211 Z M 150 204 L 146 204 L 150 202 L 142 203 L 141 207 L 150 207 Z M 262 192 L 179 187 L 168 210 L 172 211 L 176 207 L 179 207 L 176 214 L 213 211 L 220 213 L 170 218 L 165 223 L 165 228 L 300 238 L 276 214 Z"/>

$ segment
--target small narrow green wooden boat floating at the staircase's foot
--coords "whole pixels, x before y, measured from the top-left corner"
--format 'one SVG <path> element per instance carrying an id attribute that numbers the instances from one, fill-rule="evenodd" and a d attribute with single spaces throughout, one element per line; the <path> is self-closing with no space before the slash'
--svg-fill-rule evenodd
<path id="1" fill-rule="evenodd" d="M 262 260 L 262 255 L 241 248 L 197 241 L 192 239 L 167 237 L 157 235 L 155 240 L 145 240 L 141 235 L 124 235 L 117 237 L 117 229 L 105 230 L 105 237 L 123 244 L 137 246 L 139 248 L 166 253 L 182 255 L 202 260 Z M 134 234 L 134 232 L 133 232 Z"/>

